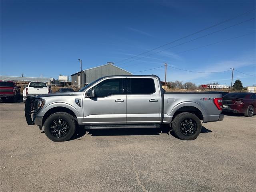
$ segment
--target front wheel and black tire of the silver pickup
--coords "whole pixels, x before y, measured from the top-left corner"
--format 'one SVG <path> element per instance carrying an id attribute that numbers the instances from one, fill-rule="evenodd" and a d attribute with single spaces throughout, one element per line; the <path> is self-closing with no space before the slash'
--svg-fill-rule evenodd
<path id="1" fill-rule="evenodd" d="M 56 123 L 56 120 L 60 121 Z M 66 112 L 54 113 L 44 122 L 44 133 L 52 141 L 67 141 L 74 135 L 75 131 L 74 117 Z"/>

